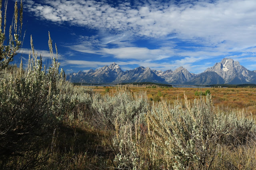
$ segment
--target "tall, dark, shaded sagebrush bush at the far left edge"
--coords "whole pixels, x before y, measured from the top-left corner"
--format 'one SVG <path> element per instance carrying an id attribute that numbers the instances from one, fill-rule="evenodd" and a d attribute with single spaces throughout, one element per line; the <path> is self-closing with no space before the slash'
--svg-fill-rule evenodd
<path id="1" fill-rule="evenodd" d="M 32 50 L 33 51 L 33 50 Z M 56 67 L 53 63 L 51 69 Z M 56 69 L 54 70 L 56 71 Z M 52 71 L 53 72 L 53 71 Z M 42 61 L 36 54 L 28 61 L 26 70 L 9 66 L 0 77 L 0 143 L 2 165 L 8 160 L 23 162 L 19 168 L 34 166 L 44 161 L 38 157 L 38 144 L 47 139 L 48 128 L 54 127 L 56 80 L 42 70 Z M 55 73 L 57 74 L 57 73 Z M 40 136 L 44 136 L 41 138 Z M 14 158 L 14 159 L 12 159 Z M 22 158 L 25 158 L 23 160 Z M 8 167 L 8 163 L 6 164 Z M 31 168 L 31 167 L 30 167 Z"/>

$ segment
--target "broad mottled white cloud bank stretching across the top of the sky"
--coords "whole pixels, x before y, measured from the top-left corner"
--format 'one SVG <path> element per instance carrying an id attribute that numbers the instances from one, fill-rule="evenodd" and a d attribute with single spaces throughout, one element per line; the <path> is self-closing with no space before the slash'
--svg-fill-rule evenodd
<path id="1" fill-rule="evenodd" d="M 55 0 L 44 1 L 44 4 L 28 1 L 26 9 L 53 22 L 133 32 L 140 36 L 158 38 L 175 33 L 180 39 L 197 41 L 196 38 L 200 38 L 208 45 L 218 46 L 226 41 L 226 49 L 256 45 L 255 0 L 150 2 L 141 5 L 113 6 L 106 1 Z"/>

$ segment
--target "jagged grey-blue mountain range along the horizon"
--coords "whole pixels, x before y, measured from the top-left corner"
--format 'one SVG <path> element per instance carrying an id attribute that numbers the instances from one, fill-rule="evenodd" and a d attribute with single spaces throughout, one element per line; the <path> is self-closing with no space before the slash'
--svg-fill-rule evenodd
<path id="1" fill-rule="evenodd" d="M 76 83 L 132 83 L 153 82 L 172 85 L 211 85 L 256 83 L 256 70 L 250 71 L 238 61 L 224 58 L 220 63 L 206 69 L 203 73 L 190 73 L 183 67 L 176 70 L 156 71 L 149 67 L 137 67 L 122 71 L 119 65 L 112 63 L 100 69 L 90 69 L 87 73 L 79 71 L 67 75 L 67 80 Z"/>

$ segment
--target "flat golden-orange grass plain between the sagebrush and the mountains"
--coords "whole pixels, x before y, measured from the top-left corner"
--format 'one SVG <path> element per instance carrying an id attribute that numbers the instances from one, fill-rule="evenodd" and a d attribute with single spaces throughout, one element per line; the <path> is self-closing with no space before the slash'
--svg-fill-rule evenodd
<path id="1" fill-rule="evenodd" d="M 146 88 L 145 86 L 127 86 L 130 91 L 139 93 L 140 91 L 146 91 L 148 99 L 158 101 L 160 99 L 158 93 L 162 94 L 162 100 L 173 104 L 179 97 L 184 99 L 184 93 L 188 97 L 188 100 L 192 102 L 193 99 L 198 98 L 195 92 L 202 91 L 203 93 L 209 89 L 212 95 L 214 106 L 219 107 L 221 110 L 241 110 L 251 112 L 256 115 L 256 88 L 194 88 L 194 87 L 174 87 L 174 88 Z M 116 87 L 96 87 L 90 86 L 96 93 L 102 95 L 106 94 L 106 88 L 109 88 L 108 93 L 115 93 Z"/>

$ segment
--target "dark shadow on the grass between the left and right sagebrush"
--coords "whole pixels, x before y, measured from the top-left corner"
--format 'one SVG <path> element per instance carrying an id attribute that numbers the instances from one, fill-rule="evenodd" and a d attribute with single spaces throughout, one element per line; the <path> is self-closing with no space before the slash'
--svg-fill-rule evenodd
<path id="1" fill-rule="evenodd" d="M 54 134 L 45 168 L 103 169 L 112 166 L 111 133 L 79 122 L 61 125 Z"/>

